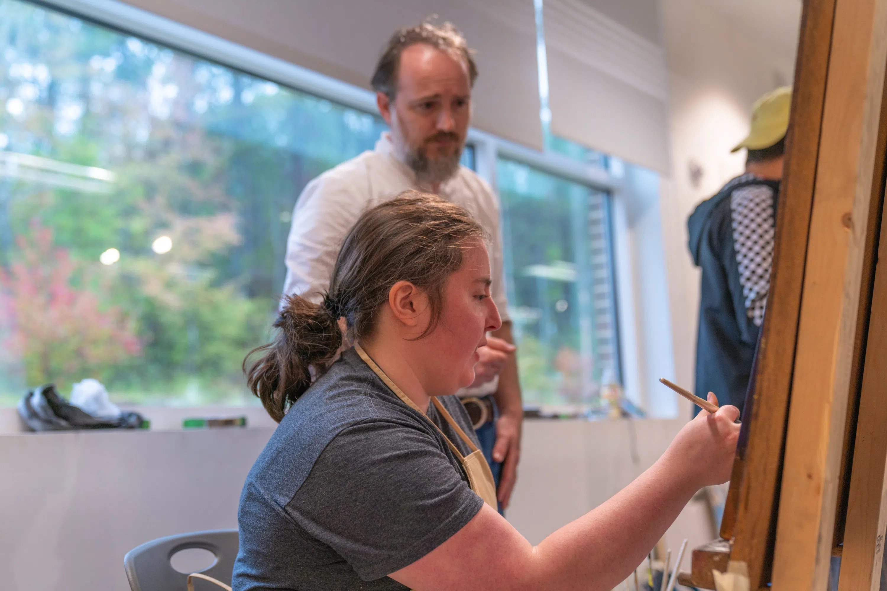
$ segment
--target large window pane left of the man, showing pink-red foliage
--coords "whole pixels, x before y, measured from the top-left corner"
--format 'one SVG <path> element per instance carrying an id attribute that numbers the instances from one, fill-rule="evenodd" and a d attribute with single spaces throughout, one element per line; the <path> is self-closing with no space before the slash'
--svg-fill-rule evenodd
<path id="1" fill-rule="evenodd" d="M 368 113 L 0 0 L 0 396 L 250 400 L 295 198 Z"/>

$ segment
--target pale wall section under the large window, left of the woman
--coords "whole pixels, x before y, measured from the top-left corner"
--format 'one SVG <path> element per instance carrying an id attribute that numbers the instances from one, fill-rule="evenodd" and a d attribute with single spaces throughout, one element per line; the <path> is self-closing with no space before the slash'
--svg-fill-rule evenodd
<path id="1" fill-rule="evenodd" d="M 125 591 L 123 555 L 237 526 L 268 429 L 0 435 L 0 588 Z"/>

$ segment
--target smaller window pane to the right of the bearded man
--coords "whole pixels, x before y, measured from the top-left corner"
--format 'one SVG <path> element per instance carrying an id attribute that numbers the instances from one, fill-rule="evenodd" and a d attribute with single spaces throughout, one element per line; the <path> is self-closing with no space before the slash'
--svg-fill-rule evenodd
<path id="1" fill-rule="evenodd" d="M 593 414 L 619 379 L 608 196 L 514 160 L 497 180 L 524 401 Z"/>

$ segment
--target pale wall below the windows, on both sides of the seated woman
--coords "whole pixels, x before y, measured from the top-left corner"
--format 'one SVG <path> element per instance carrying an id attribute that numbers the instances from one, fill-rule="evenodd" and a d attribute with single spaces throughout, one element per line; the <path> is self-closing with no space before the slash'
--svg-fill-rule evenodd
<path id="1" fill-rule="evenodd" d="M 528 421 L 509 520 L 537 543 L 631 482 L 679 428 L 679 421 Z M 240 488 L 271 432 L 0 435 L 0 588 L 124 591 L 131 548 L 236 527 Z M 672 548 L 700 510 L 693 503 L 685 510 L 670 532 Z"/>

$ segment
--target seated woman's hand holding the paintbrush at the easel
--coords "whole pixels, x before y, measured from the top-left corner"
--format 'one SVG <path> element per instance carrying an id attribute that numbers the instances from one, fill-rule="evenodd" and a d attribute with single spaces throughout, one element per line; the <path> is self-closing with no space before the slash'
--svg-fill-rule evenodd
<path id="1" fill-rule="evenodd" d="M 718 404 L 709 393 L 708 400 Z M 713 415 L 700 411 L 684 425 L 666 450 L 665 459 L 673 470 L 703 486 L 718 485 L 730 479 L 740 425 L 735 423 L 739 408 L 723 406 Z"/>

